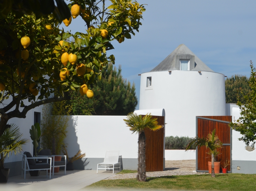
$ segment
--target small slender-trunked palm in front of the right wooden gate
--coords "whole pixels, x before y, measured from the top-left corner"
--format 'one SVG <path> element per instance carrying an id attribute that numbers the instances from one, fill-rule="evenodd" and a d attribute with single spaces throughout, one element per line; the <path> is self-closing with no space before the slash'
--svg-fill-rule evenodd
<path id="1" fill-rule="evenodd" d="M 222 142 L 219 140 L 218 136 L 215 135 L 215 132 L 216 132 L 216 129 L 213 129 L 212 133 L 209 133 L 207 138 L 199 138 L 199 137 L 191 138 L 186 147 L 186 151 L 189 150 L 189 148 L 192 145 L 198 146 L 198 149 L 201 146 L 206 146 L 206 148 L 209 148 L 210 152 L 208 154 L 210 154 L 212 157 L 212 172 L 211 172 L 212 177 L 215 177 L 214 159 L 215 159 L 215 156 L 219 153 L 217 149 L 222 147 Z"/>

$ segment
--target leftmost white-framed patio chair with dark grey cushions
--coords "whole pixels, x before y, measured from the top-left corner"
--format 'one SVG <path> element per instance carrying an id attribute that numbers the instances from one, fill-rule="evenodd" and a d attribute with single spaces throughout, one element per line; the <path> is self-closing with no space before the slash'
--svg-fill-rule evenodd
<path id="1" fill-rule="evenodd" d="M 47 163 L 35 163 L 35 159 L 45 159 Z M 49 160 L 49 163 L 48 163 Z M 24 165 L 23 165 L 24 164 Z M 52 158 L 50 157 L 32 157 L 29 152 L 24 152 L 22 155 L 22 173 L 24 171 L 24 179 L 26 179 L 26 171 L 46 170 L 46 177 L 48 177 L 48 170 L 51 172 Z M 51 179 L 51 173 L 50 173 Z"/>

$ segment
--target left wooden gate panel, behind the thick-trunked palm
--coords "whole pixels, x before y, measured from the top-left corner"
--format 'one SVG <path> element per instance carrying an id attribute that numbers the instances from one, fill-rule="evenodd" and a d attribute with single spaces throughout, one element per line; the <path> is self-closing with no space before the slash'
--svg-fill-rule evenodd
<path id="1" fill-rule="evenodd" d="M 144 115 L 142 115 L 144 117 Z M 165 117 L 152 116 L 157 118 L 159 125 L 165 125 Z M 164 128 L 158 131 L 150 131 L 145 129 L 146 136 L 146 172 L 163 171 L 163 152 L 164 152 Z"/>

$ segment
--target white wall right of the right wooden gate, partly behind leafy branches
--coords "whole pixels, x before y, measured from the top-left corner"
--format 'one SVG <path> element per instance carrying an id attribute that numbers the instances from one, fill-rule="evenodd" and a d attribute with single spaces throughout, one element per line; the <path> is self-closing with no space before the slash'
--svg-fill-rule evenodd
<path id="1" fill-rule="evenodd" d="M 237 120 L 240 117 L 240 109 L 233 107 L 232 113 Z M 234 118 L 232 121 L 234 122 Z M 245 143 L 243 141 L 239 141 L 238 138 L 242 137 L 240 132 L 232 130 L 232 160 L 256 160 L 256 150 L 247 151 L 245 150 Z"/>

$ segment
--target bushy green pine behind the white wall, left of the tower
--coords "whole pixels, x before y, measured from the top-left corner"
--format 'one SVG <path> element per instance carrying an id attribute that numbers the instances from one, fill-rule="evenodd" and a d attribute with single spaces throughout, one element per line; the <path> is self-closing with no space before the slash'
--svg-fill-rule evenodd
<path id="1" fill-rule="evenodd" d="M 102 79 L 89 87 L 94 92 L 91 100 L 72 92 L 72 115 L 127 115 L 134 111 L 138 104 L 135 84 L 124 79 L 121 71 L 120 65 L 117 69 L 111 63 L 103 68 Z"/>

